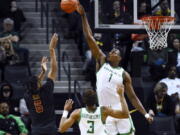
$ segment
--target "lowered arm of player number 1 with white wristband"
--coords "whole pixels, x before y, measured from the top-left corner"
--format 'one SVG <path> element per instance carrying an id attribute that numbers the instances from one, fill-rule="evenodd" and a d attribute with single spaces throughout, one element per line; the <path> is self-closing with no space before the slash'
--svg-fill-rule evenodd
<path id="1" fill-rule="evenodd" d="M 131 102 L 131 104 L 139 111 L 141 112 L 145 118 L 151 123 L 153 121 L 153 117 L 151 117 L 146 110 L 144 109 L 141 101 L 138 99 L 136 96 L 134 89 L 132 87 L 132 80 L 130 75 L 127 72 L 123 73 L 123 78 L 124 78 L 124 86 L 126 90 L 126 94 Z"/>

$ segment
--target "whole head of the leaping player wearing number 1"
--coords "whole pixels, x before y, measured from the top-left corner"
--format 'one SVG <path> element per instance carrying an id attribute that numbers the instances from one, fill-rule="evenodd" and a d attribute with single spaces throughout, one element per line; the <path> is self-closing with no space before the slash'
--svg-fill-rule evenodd
<path id="1" fill-rule="evenodd" d="M 117 48 L 113 48 L 109 54 L 108 54 L 108 57 L 107 57 L 107 61 L 110 63 L 110 64 L 118 64 L 120 63 L 121 61 L 121 52 L 119 49 Z"/>

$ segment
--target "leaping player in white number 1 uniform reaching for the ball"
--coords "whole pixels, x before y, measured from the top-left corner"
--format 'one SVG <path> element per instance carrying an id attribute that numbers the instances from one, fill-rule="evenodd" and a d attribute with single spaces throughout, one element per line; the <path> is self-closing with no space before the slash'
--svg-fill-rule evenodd
<path id="1" fill-rule="evenodd" d="M 77 6 L 77 12 L 81 15 L 84 36 L 92 55 L 97 63 L 99 63 L 96 82 L 99 105 L 111 106 L 113 109 L 121 105 L 121 103 L 118 102 L 119 99 L 115 92 L 115 87 L 118 84 L 124 84 L 125 93 L 132 105 L 141 112 L 149 122 L 152 122 L 153 118 L 146 112 L 133 90 L 130 75 L 122 67 L 119 67 L 121 61 L 120 51 L 118 49 L 112 49 L 106 57 L 96 44 L 82 5 L 79 4 Z M 127 119 L 108 117 L 106 120 L 106 130 L 110 135 L 133 135 L 135 131 L 130 117 Z"/>

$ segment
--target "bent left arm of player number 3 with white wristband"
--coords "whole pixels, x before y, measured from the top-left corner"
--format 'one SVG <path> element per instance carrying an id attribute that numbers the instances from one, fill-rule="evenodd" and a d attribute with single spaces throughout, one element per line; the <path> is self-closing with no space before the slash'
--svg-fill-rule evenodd
<path id="1" fill-rule="evenodd" d="M 64 133 L 68 128 L 70 128 L 80 117 L 80 110 L 74 110 L 70 117 L 67 118 L 68 112 L 72 109 L 73 100 L 68 99 L 64 105 L 64 112 L 60 120 L 58 132 Z"/>

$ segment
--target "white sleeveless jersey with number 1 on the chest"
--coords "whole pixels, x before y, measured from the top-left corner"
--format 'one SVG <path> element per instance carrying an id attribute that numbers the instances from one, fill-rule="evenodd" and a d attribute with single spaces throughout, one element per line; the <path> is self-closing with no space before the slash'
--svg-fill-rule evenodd
<path id="1" fill-rule="evenodd" d="M 97 95 L 100 106 L 111 106 L 113 109 L 119 109 L 120 101 L 117 94 L 117 85 L 123 83 L 124 69 L 121 67 L 113 68 L 105 63 L 97 72 Z"/>

